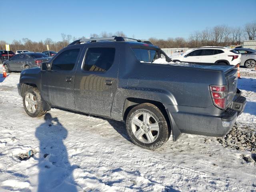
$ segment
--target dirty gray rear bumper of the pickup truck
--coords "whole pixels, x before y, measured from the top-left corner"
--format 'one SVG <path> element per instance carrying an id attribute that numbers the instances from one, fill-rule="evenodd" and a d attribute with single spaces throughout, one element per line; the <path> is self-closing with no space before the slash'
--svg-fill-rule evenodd
<path id="1" fill-rule="evenodd" d="M 232 108 L 227 108 L 217 115 L 209 114 L 207 108 L 191 109 L 191 107 L 168 105 L 166 110 L 172 124 L 173 139 L 174 141 L 177 140 L 181 133 L 214 137 L 225 136 L 234 126 L 238 115 L 244 111 L 245 106 L 246 98 L 242 96 L 233 100 Z"/>

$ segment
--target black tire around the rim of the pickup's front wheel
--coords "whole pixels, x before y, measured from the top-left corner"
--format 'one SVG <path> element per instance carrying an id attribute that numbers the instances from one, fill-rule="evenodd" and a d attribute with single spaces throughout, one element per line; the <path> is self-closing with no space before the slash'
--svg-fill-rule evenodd
<path id="1" fill-rule="evenodd" d="M 36 111 L 34 113 L 31 113 L 28 111 L 28 109 L 26 108 L 26 104 L 25 104 L 25 97 L 28 93 L 33 94 L 35 100 L 36 100 Z M 40 117 L 43 116 L 44 114 L 46 114 L 46 111 L 43 110 L 43 105 L 42 105 L 42 98 L 40 95 L 40 92 L 38 91 L 37 88 L 31 87 L 28 88 L 24 94 L 23 94 L 23 107 L 26 111 L 26 113 L 30 116 L 30 117 Z"/>

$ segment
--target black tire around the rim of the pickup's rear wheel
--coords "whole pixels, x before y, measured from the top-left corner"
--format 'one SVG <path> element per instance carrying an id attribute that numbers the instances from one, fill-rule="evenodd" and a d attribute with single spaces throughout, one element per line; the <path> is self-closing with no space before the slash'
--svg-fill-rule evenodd
<path id="1" fill-rule="evenodd" d="M 142 112 L 150 114 L 150 116 L 152 116 L 156 120 L 159 126 L 158 137 L 156 137 L 156 140 L 151 143 L 141 142 L 139 139 L 136 138 L 134 132 L 132 131 L 132 120 L 134 116 Z M 166 119 L 164 118 L 164 115 L 155 105 L 150 103 L 139 104 L 130 110 L 126 118 L 126 130 L 134 144 L 149 150 L 155 150 L 159 148 L 169 139 L 170 136 L 168 125 Z"/>

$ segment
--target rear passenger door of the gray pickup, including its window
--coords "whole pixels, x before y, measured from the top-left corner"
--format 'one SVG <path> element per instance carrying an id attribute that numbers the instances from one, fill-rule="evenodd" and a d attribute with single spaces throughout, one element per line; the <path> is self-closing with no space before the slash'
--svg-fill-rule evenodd
<path id="1" fill-rule="evenodd" d="M 76 70 L 74 97 L 77 110 L 110 117 L 117 87 L 120 48 L 91 45 Z"/>

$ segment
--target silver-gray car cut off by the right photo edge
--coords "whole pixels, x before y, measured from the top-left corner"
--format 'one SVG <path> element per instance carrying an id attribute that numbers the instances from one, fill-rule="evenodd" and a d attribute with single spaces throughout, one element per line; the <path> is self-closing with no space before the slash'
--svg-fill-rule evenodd
<path id="1" fill-rule="evenodd" d="M 256 50 L 248 48 L 235 48 L 241 56 L 241 66 L 246 66 L 246 68 L 254 68 L 256 65 Z"/>

